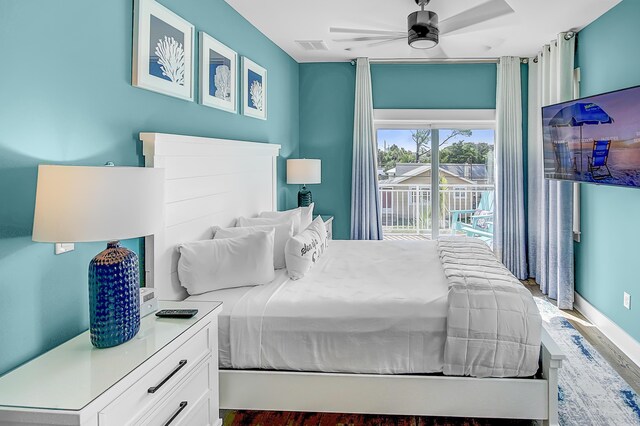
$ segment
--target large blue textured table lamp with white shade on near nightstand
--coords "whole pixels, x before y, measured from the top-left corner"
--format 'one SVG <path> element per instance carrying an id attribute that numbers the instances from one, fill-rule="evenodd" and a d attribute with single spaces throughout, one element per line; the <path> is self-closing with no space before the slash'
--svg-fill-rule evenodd
<path id="1" fill-rule="evenodd" d="M 138 256 L 119 240 L 151 235 L 163 223 L 164 170 L 38 167 L 33 241 L 108 241 L 89 264 L 91 343 L 108 348 L 140 328 Z"/>

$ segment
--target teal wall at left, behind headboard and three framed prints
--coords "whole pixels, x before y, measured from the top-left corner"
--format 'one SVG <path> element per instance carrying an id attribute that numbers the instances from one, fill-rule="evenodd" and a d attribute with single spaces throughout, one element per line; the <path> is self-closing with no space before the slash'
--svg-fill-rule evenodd
<path id="1" fill-rule="evenodd" d="M 283 183 L 298 64 L 223 0 L 160 2 L 268 70 L 267 121 L 132 87 L 132 0 L 0 2 L 0 374 L 88 327 L 87 265 L 104 247 L 31 242 L 38 164 L 141 165 L 140 131 L 279 143 L 279 206 L 296 203 Z"/>

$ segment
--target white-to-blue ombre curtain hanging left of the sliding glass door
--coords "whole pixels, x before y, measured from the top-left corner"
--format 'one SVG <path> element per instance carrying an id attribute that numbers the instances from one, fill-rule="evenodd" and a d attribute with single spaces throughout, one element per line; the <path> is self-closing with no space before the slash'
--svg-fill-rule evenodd
<path id="1" fill-rule="evenodd" d="M 352 240 L 382 239 L 377 152 L 369 59 L 358 58 L 351 171 Z"/>

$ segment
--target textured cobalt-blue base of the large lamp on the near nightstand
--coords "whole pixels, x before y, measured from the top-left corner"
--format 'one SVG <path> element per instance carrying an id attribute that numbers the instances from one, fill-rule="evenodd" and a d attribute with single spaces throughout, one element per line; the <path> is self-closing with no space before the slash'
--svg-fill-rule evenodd
<path id="1" fill-rule="evenodd" d="M 132 339 L 140 329 L 138 255 L 111 241 L 89 263 L 91 343 L 109 348 Z"/>

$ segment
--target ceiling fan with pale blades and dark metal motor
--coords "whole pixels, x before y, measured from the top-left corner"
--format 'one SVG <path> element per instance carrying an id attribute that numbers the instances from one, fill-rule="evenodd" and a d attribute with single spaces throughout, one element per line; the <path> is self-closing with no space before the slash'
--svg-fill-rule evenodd
<path id="1" fill-rule="evenodd" d="M 334 40 L 337 42 L 373 41 L 373 43 L 365 44 L 364 46 L 348 47 L 346 50 L 374 47 L 403 39 L 407 39 L 409 46 L 415 49 L 433 49 L 438 46 L 441 36 L 514 12 L 506 0 L 489 0 L 439 23 L 437 13 L 424 10 L 431 0 L 414 1 L 420 6 L 420 10 L 411 13 L 407 17 L 407 32 L 338 27 L 329 28 L 329 32 L 363 34 L 361 37 Z M 441 55 L 444 55 L 442 47 L 439 47 L 438 51 Z"/>

